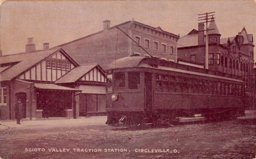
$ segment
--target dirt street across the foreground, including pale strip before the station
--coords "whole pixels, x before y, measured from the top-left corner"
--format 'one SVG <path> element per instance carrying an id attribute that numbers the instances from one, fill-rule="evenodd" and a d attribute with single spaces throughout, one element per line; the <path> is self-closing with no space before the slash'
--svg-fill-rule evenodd
<path id="1" fill-rule="evenodd" d="M 3 159 L 253 159 L 256 119 L 175 127 L 125 128 L 106 117 L 24 121 L 0 125 Z M 40 151 L 40 152 L 39 152 Z"/>

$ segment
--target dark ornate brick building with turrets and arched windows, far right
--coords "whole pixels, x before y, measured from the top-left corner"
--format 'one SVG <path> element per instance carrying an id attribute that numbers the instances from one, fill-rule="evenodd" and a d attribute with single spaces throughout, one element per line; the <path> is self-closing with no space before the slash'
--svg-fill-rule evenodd
<path id="1" fill-rule="evenodd" d="M 209 23 L 208 29 L 213 29 L 208 31 L 209 69 L 243 76 L 248 84 L 254 68 L 253 35 L 243 28 L 234 37 L 221 38 L 215 21 Z M 205 34 L 202 30 L 204 23 L 178 40 L 178 59 L 205 64 Z"/>

